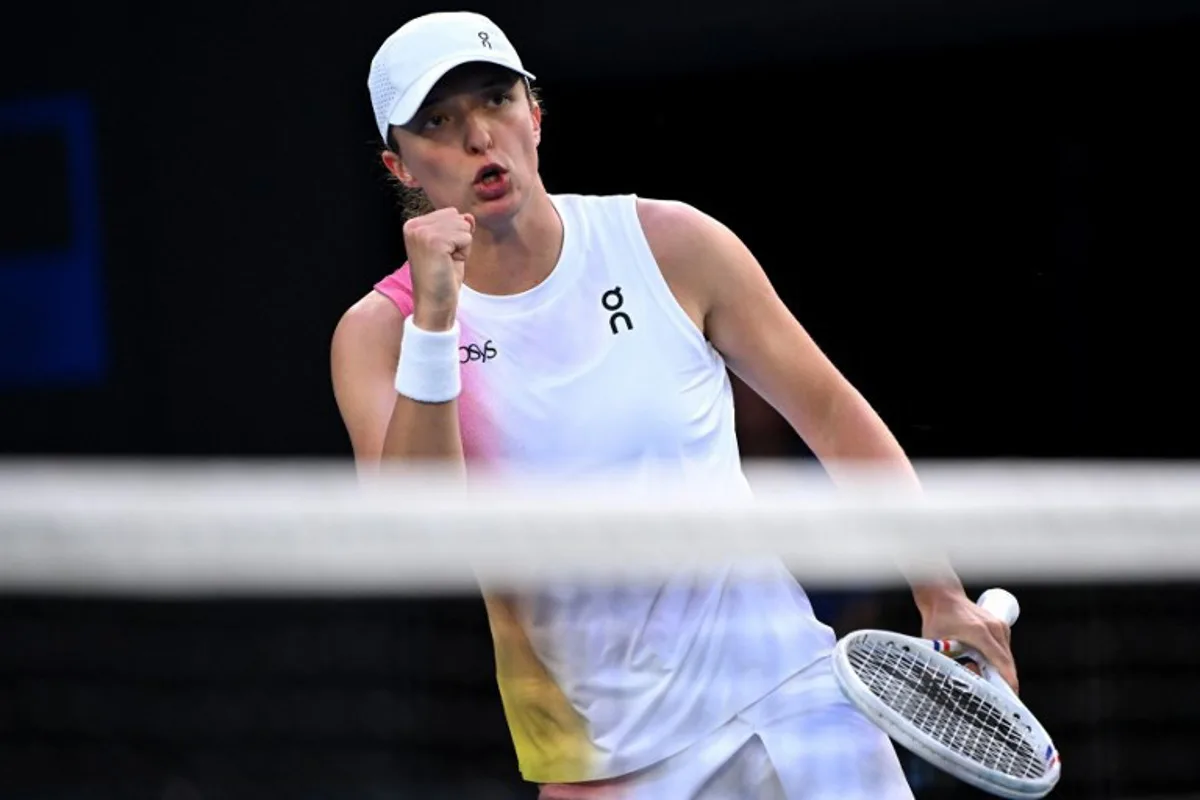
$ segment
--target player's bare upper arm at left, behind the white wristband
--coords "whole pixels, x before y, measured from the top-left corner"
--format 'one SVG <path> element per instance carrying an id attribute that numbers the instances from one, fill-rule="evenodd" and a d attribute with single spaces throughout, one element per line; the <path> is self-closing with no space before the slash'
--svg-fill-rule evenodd
<path id="1" fill-rule="evenodd" d="M 330 345 L 334 397 L 360 465 L 376 465 L 396 405 L 395 375 L 404 318 L 371 293 L 337 323 Z"/>

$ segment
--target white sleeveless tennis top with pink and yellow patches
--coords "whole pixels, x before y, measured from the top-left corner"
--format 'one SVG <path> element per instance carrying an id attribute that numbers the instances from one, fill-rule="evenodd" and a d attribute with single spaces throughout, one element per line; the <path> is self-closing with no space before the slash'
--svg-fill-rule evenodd
<path id="1" fill-rule="evenodd" d="M 564 241 L 550 277 L 460 297 L 468 464 L 695 477 L 749 495 L 725 363 L 664 279 L 637 199 L 552 200 Z M 407 266 L 377 289 L 410 313 Z M 667 758 L 834 643 L 779 561 L 654 585 L 485 589 L 485 601 L 521 772 L 540 783 Z"/>

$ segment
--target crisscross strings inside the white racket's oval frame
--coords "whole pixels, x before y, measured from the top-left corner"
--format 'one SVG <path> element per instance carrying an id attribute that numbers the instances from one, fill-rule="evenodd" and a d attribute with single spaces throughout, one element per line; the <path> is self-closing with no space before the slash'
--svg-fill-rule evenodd
<path id="1" fill-rule="evenodd" d="M 871 639 L 848 651 L 872 694 L 924 734 L 988 769 L 1038 778 L 1045 764 L 1008 712 L 931 663 L 929 652 Z M 960 667 L 954 667 L 960 669 Z"/>

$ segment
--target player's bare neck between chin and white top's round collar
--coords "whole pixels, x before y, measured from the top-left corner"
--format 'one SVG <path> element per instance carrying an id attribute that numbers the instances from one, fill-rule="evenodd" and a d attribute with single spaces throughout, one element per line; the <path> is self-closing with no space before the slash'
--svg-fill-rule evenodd
<path id="1" fill-rule="evenodd" d="M 509 224 L 476 228 L 466 283 L 480 294 L 527 291 L 550 276 L 562 248 L 563 221 L 546 190 L 538 186 Z"/>

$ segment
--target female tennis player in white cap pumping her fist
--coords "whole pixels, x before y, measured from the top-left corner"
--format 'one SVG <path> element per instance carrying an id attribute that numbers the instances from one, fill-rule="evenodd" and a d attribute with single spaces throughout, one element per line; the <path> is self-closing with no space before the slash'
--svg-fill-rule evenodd
<path id="1" fill-rule="evenodd" d="M 874 462 L 916 485 L 728 228 L 677 201 L 546 191 L 532 80 L 466 12 L 407 23 L 372 61 L 383 163 L 433 210 L 406 222 L 408 263 L 334 335 L 358 462 L 745 493 L 728 368 L 827 467 Z M 925 636 L 973 645 L 1015 685 L 1007 627 L 956 578 L 913 595 Z M 834 634 L 781 563 L 485 588 L 485 602 L 518 766 L 542 800 L 912 796 L 890 741 L 841 698 Z"/>

